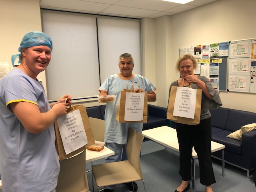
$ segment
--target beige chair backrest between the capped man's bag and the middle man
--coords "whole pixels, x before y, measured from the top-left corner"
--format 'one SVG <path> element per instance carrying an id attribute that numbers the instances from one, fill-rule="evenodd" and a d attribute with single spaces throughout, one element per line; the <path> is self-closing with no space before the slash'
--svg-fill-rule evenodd
<path id="1" fill-rule="evenodd" d="M 102 119 L 97 119 L 89 117 L 90 126 L 92 128 L 92 134 L 96 141 L 104 141 L 105 134 L 105 121 Z"/>

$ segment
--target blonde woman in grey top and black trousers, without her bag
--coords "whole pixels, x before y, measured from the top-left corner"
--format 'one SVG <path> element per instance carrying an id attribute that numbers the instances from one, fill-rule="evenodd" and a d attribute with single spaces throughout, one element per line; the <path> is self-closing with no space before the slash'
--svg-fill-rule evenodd
<path id="1" fill-rule="evenodd" d="M 180 148 L 180 176 L 182 177 L 182 183 L 175 192 L 185 192 L 190 188 L 189 180 L 191 179 L 190 170 L 193 146 L 198 154 L 200 183 L 206 186 L 205 191 L 212 192 L 211 185 L 216 182 L 211 160 L 212 128 L 209 109 L 216 109 L 222 106 L 222 103 L 218 91 L 212 87 L 208 78 L 193 73 L 196 66 L 194 56 L 189 54 L 182 55 L 176 63 L 176 70 L 182 78 L 172 82 L 170 86 L 170 90 L 172 86 L 182 86 L 182 80 L 184 79 L 184 87 L 188 87 L 191 84 L 193 89 L 202 89 L 200 123 L 198 125 L 176 124 Z"/>

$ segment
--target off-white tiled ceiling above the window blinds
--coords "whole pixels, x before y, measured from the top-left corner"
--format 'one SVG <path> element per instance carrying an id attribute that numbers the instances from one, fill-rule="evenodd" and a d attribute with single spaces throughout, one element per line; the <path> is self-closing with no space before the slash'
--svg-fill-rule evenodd
<path id="1" fill-rule="evenodd" d="M 174 15 L 217 0 L 194 0 L 186 4 L 162 0 L 40 0 L 40 7 L 70 12 L 129 18 L 158 18 Z"/>

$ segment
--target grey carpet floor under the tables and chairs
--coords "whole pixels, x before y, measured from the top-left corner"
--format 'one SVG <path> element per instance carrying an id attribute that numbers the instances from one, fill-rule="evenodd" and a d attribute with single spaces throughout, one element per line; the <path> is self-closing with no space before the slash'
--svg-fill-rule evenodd
<path id="1" fill-rule="evenodd" d="M 104 163 L 105 160 L 94 161 L 93 164 Z M 141 149 L 140 163 L 147 192 L 174 192 L 180 185 L 179 154 L 150 140 L 144 141 Z M 212 158 L 212 166 L 216 183 L 212 184 L 214 192 L 256 192 L 255 184 L 247 178 L 247 172 L 230 164 L 225 164 L 225 176 L 222 176 L 221 161 Z M 90 170 L 91 163 L 86 164 L 86 170 Z M 88 182 L 92 192 L 92 172 L 88 172 Z M 142 181 L 137 181 L 138 192 L 144 192 Z M 199 165 L 196 160 L 196 188 L 188 192 L 204 192 L 205 186 L 200 184 Z M 94 182 L 94 192 L 97 191 Z M 129 192 L 124 184 L 117 185 L 114 192 Z"/>

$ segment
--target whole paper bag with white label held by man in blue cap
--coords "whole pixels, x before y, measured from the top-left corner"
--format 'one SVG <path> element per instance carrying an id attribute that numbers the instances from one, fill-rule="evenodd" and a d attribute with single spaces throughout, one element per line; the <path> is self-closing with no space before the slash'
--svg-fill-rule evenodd
<path id="1" fill-rule="evenodd" d="M 83 105 L 68 108 L 67 114 L 54 121 L 55 147 L 60 160 L 72 157 L 95 143 L 86 109 Z"/>

